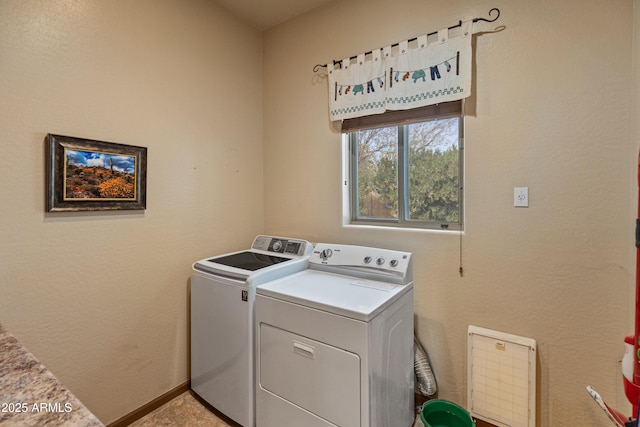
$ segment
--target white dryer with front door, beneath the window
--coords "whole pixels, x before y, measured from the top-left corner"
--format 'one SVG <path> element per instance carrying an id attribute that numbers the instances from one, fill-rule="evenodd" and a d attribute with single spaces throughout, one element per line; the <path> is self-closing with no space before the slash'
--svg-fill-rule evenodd
<path id="1" fill-rule="evenodd" d="M 411 254 L 318 243 L 256 291 L 258 427 L 409 427 Z"/>

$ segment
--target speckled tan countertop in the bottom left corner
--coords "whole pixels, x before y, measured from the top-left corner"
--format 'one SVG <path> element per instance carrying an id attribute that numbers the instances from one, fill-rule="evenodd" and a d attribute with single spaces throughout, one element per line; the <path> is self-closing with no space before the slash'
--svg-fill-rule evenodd
<path id="1" fill-rule="evenodd" d="M 104 426 L 2 325 L 0 425 Z"/>

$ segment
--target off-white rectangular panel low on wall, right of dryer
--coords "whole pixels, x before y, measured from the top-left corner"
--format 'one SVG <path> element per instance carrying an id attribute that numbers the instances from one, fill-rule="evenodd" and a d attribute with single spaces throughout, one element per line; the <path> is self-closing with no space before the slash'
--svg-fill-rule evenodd
<path id="1" fill-rule="evenodd" d="M 469 326 L 467 405 L 498 427 L 536 425 L 536 341 Z"/>

